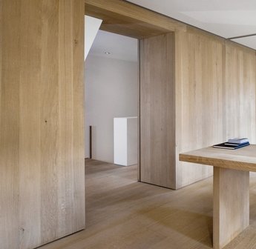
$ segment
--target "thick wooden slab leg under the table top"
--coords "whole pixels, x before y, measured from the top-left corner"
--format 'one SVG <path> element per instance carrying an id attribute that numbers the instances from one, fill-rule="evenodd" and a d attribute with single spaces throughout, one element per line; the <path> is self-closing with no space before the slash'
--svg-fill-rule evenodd
<path id="1" fill-rule="evenodd" d="M 249 171 L 214 167 L 214 249 L 223 248 L 248 225 Z"/>

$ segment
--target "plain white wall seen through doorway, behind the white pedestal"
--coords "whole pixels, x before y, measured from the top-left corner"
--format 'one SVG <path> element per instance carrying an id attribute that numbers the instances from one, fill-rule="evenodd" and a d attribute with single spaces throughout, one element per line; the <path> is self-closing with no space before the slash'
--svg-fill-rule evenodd
<path id="1" fill-rule="evenodd" d="M 114 162 L 114 117 L 137 116 L 138 64 L 92 56 L 85 62 L 85 156 L 93 126 L 93 159 Z"/>

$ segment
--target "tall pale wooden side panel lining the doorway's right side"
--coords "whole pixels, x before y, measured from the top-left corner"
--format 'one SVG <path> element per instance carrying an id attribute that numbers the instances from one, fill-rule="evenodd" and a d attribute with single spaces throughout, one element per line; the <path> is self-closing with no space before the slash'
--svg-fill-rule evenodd
<path id="1" fill-rule="evenodd" d="M 174 34 L 140 43 L 141 181 L 175 186 Z"/>

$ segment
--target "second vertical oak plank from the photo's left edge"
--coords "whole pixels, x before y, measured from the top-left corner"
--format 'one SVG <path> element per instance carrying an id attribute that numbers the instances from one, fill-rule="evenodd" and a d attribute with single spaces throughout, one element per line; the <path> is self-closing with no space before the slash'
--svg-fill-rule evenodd
<path id="1" fill-rule="evenodd" d="M 16 165 L 19 168 L 19 247 L 29 248 L 39 245 L 41 233 L 41 3 L 21 1 L 20 11 L 20 68 L 16 71 L 20 79 L 19 162 Z"/>

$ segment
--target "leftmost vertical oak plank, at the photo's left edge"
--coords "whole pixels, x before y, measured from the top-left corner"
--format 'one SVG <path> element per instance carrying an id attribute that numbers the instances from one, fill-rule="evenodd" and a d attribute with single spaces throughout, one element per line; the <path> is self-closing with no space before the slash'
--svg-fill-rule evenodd
<path id="1" fill-rule="evenodd" d="M 0 242 L 4 249 L 17 248 L 19 243 L 20 9 L 20 1 L 0 1 Z"/>

